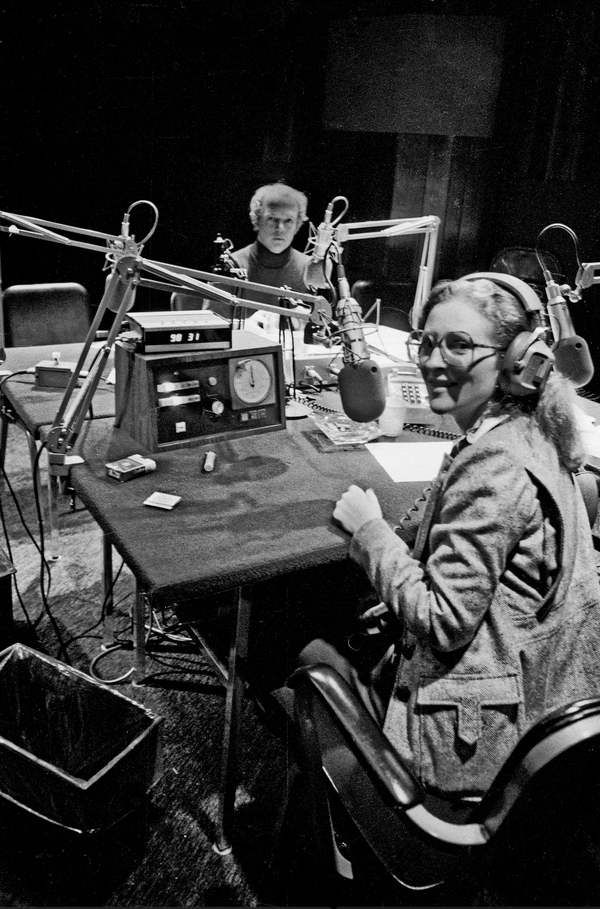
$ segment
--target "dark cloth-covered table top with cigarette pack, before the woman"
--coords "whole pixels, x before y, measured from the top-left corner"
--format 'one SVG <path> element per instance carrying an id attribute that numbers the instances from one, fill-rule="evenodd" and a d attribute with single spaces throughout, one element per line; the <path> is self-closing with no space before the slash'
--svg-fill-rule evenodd
<path id="1" fill-rule="evenodd" d="M 403 433 L 402 441 L 424 441 Z M 431 440 L 430 440 L 431 441 Z M 207 450 L 212 473 L 203 471 Z M 332 520 L 351 482 L 372 487 L 399 520 L 423 483 L 395 483 L 364 447 L 338 449 L 310 419 L 285 430 L 151 454 L 110 420 L 84 427 L 71 480 L 155 605 L 253 584 L 347 557 L 348 536 Z M 134 453 L 157 470 L 127 482 L 107 461 Z M 144 505 L 153 492 L 181 496 L 172 511 Z"/>

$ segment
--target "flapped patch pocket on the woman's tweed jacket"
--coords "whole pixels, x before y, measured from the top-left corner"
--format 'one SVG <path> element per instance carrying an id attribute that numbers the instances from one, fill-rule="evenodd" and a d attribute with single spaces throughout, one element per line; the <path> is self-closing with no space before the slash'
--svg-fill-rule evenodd
<path id="1" fill-rule="evenodd" d="M 519 739 L 521 685 L 501 676 L 422 676 L 416 699 L 420 775 L 444 792 L 481 795 Z"/>

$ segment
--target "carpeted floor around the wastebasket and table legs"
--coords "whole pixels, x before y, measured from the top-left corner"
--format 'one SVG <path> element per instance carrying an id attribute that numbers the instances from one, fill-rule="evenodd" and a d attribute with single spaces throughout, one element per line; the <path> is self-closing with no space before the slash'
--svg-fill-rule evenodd
<path id="1" fill-rule="evenodd" d="M 24 433 L 17 427 L 9 431 L 6 477 L 0 483 L 9 540 L 4 538 L 0 545 L 10 548 L 16 568 L 17 638 L 89 672 L 91 660 L 102 652 L 100 532 L 85 510 L 70 512 L 68 496 L 61 497 L 61 556 L 42 573 L 29 458 Z M 45 494 L 44 479 L 43 483 Z M 115 571 L 118 567 L 116 562 Z M 123 569 L 115 584 L 116 628 L 123 641 L 132 594 L 132 578 Z M 163 630 L 172 627 L 173 616 L 158 619 Z M 115 686 L 164 718 L 164 775 L 147 803 L 108 835 L 88 841 L 0 800 L 1 905 L 299 903 L 283 871 L 279 837 L 291 767 L 285 748 L 258 720 L 250 700 L 244 705 L 239 747 L 233 852 L 220 857 L 211 849 L 224 689 L 201 655 L 179 641 L 180 632 L 173 634 L 175 641 L 157 639 L 148 684 L 134 687 L 125 681 Z M 94 671 L 112 680 L 130 666 L 131 651 L 121 649 L 101 658 Z"/>

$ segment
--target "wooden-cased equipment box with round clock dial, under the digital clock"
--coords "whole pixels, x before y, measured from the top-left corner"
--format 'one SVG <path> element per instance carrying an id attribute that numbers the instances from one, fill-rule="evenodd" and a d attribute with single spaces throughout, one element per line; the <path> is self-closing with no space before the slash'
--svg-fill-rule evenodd
<path id="1" fill-rule="evenodd" d="M 229 350 L 115 344 L 115 425 L 151 452 L 285 428 L 281 346 L 234 331 Z"/>

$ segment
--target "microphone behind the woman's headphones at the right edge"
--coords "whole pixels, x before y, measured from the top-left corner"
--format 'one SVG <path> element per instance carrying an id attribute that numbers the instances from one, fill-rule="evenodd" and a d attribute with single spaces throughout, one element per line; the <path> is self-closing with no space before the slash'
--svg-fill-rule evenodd
<path id="1" fill-rule="evenodd" d="M 548 316 L 555 338 L 552 345 L 554 366 L 557 372 L 566 376 L 576 388 L 582 388 L 591 382 L 594 375 L 594 364 L 587 341 L 575 334 L 561 288 L 547 269 L 544 269 L 544 279 L 548 297 Z"/>

